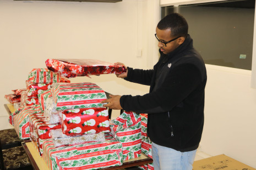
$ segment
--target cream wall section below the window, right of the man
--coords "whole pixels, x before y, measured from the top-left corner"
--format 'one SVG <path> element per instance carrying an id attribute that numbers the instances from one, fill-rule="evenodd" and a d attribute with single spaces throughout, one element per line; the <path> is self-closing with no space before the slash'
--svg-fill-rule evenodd
<path id="1" fill-rule="evenodd" d="M 206 65 L 205 125 L 201 150 L 256 168 L 256 89 L 251 71 Z"/>

